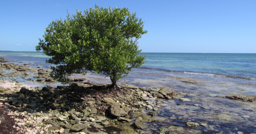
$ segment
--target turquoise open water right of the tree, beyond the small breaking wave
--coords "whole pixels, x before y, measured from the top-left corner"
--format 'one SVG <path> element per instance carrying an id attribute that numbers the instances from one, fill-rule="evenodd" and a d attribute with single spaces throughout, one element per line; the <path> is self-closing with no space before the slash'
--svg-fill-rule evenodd
<path id="1" fill-rule="evenodd" d="M 256 54 L 145 53 L 142 68 L 256 79 Z"/>

